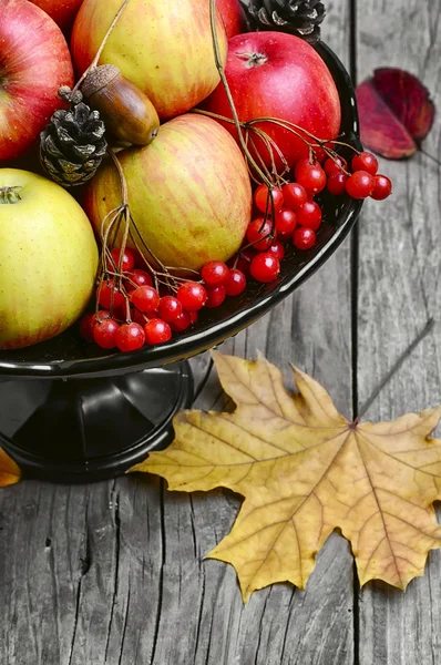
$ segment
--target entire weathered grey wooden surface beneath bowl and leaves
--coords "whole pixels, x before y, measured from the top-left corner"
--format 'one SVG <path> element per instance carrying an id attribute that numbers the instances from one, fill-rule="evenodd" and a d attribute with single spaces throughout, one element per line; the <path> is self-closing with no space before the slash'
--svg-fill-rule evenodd
<path id="1" fill-rule="evenodd" d="M 440 4 L 358 2 L 359 75 L 404 64 L 441 102 Z M 328 3 L 325 40 L 350 64 L 355 0 Z M 353 63 L 352 63 L 353 64 Z M 437 152 L 440 123 L 428 142 Z M 295 295 L 224 345 L 312 374 L 352 416 L 390 364 L 437 316 L 439 172 L 388 164 L 396 195 L 367 206 L 359 234 L 358 313 L 351 239 Z M 358 316 L 353 316 L 357 315 Z M 357 349 L 351 340 L 357 339 Z M 390 419 L 441 401 L 440 329 L 370 408 Z M 358 354 L 355 354 L 355 351 Z M 358 362 L 358 371 L 352 368 Z M 206 356 L 193 361 L 199 380 Z M 221 408 L 209 375 L 197 406 Z M 234 522 L 228 492 L 167 493 L 155 478 L 90 487 L 25 482 L 0 492 L 0 665 L 434 665 L 441 662 L 439 553 L 406 594 L 359 592 L 348 544 L 334 534 L 305 592 L 288 585 L 243 606 L 235 573 L 203 561 Z"/>

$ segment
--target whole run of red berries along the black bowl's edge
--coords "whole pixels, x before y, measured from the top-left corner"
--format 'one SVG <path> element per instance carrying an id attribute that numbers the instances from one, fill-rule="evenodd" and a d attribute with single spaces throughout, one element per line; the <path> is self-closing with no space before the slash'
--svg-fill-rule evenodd
<path id="1" fill-rule="evenodd" d="M 331 154 L 331 153 L 329 153 Z M 357 153 L 352 173 L 342 157 L 332 154 L 319 162 L 300 160 L 295 167 L 295 182 L 281 187 L 259 185 L 254 194 L 258 213 L 248 225 L 246 246 L 227 266 L 221 260 L 205 264 L 201 282 L 173 278 L 165 293 L 155 277 L 146 272 L 141 256 L 131 249 L 114 248 L 107 253 L 105 279 L 96 289 L 98 308 L 81 321 L 81 334 L 104 349 L 134 351 L 144 345 L 168 341 L 173 332 L 192 326 L 203 307 L 222 305 L 227 296 L 238 296 L 247 285 L 247 276 L 269 283 L 280 273 L 285 256 L 283 242 L 291 241 L 299 250 L 310 249 L 321 225 L 321 208 L 314 201 L 326 187 L 334 195 L 353 198 L 371 196 L 382 200 L 391 193 L 391 182 L 378 175 L 378 162 L 368 153 Z M 142 267 L 140 267 L 142 266 Z M 173 293 L 173 295 L 171 295 Z"/>

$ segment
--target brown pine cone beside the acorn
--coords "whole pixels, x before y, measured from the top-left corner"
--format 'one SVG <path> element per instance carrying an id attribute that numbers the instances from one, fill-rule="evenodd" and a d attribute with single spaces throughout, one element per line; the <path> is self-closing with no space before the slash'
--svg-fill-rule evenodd
<path id="1" fill-rule="evenodd" d="M 50 177 L 64 187 L 93 177 L 107 149 L 104 133 L 100 113 L 84 102 L 55 111 L 40 134 L 40 160 Z"/>

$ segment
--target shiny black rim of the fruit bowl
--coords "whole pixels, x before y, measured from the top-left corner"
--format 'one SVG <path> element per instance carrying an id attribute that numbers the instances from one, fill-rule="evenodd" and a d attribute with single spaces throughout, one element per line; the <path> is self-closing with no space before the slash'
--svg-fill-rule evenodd
<path id="1" fill-rule="evenodd" d="M 339 88 L 343 86 L 348 92 L 350 105 L 350 120 L 352 124 L 351 135 L 348 142 L 358 150 L 362 149 L 359 139 L 359 117 L 357 111 L 356 93 L 352 81 L 346 68 L 336 53 L 322 41 L 315 44 L 317 52 L 332 62 L 332 68 L 340 79 Z M 336 79 L 336 76 L 334 75 Z M 316 252 L 316 254 L 291 276 L 285 276 L 280 283 L 271 285 L 271 291 L 259 297 L 258 300 L 239 311 L 227 316 L 223 321 L 213 324 L 209 329 L 194 330 L 185 337 L 172 338 L 168 342 L 154 347 L 143 347 L 137 351 L 122 354 L 112 352 L 107 356 L 96 358 L 76 358 L 73 360 L 50 360 L 39 362 L 13 360 L 0 358 L 0 376 L 8 378 L 28 379 L 61 379 L 61 378 L 85 378 L 104 377 L 130 371 L 142 371 L 143 369 L 165 366 L 186 358 L 196 356 L 209 348 L 221 344 L 228 337 L 237 335 L 245 327 L 254 324 L 264 316 L 273 306 L 280 303 L 285 297 L 298 288 L 306 279 L 326 263 L 336 252 L 352 229 L 362 207 L 362 201 L 347 197 L 339 218 L 342 219 L 339 227 L 329 239 Z M 35 345 L 37 348 L 38 345 Z M 20 349 L 17 349 L 20 351 Z M 13 354 L 14 351 L 7 351 Z M 1 354 L 1 351 L 0 351 Z"/>

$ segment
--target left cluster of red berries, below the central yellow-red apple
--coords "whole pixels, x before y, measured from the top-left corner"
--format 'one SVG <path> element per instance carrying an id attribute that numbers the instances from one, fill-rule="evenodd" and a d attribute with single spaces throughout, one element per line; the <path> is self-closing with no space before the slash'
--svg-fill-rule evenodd
<path id="1" fill-rule="evenodd" d="M 109 269 L 122 268 L 122 288 L 112 278 L 102 282 L 95 294 L 102 309 L 86 314 L 80 324 L 82 337 L 103 349 L 127 352 L 168 341 L 173 332 L 183 332 L 197 320 L 202 307 L 218 307 L 226 296 L 238 296 L 246 287 L 240 270 L 213 260 L 202 268 L 204 284 L 182 282 L 175 295 L 161 295 L 151 275 L 134 267 L 131 249 L 122 258 L 117 248 L 111 255 Z"/>

